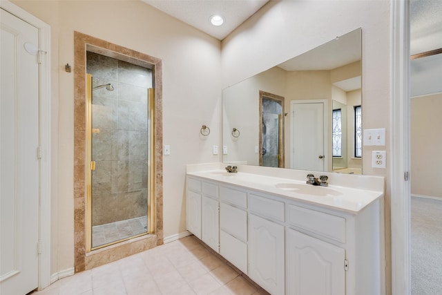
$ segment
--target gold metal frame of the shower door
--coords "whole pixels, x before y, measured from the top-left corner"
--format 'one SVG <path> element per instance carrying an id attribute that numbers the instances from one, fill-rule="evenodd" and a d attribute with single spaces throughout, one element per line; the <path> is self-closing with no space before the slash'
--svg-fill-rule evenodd
<path id="1" fill-rule="evenodd" d="M 137 234 L 121 240 L 115 240 L 107 244 L 92 247 L 92 171 L 95 170 L 95 161 L 92 160 L 92 75 L 86 74 L 86 251 L 96 249 L 145 236 L 155 234 L 155 89 L 148 88 L 147 104 L 147 130 L 148 130 L 148 159 L 147 159 L 147 228 L 143 234 Z"/>

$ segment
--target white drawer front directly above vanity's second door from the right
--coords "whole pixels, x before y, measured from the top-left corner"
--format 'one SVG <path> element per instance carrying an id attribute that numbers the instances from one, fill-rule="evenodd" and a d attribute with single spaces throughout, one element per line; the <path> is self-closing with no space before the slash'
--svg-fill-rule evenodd
<path id="1" fill-rule="evenodd" d="M 285 220 L 284 202 L 271 200 L 269 198 L 252 195 L 249 193 L 249 210 L 260 213 L 262 216 L 267 216 L 274 220 Z"/>

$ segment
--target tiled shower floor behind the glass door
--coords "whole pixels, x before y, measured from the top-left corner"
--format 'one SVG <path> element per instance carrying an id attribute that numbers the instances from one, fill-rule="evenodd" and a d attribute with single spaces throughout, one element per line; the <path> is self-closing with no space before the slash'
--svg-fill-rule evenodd
<path id="1" fill-rule="evenodd" d="M 122 240 L 146 232 L 147 216 L 92 227 L 92 247 Z"/>

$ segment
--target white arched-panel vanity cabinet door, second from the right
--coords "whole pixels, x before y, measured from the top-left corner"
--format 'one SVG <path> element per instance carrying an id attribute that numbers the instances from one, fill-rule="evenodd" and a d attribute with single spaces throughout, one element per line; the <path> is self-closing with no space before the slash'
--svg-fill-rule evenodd
<path id="1" fill-rule="evenodd" d="M 249 276 L 271 294 L 285 294 L 284 227 L 249 214 Z"/>

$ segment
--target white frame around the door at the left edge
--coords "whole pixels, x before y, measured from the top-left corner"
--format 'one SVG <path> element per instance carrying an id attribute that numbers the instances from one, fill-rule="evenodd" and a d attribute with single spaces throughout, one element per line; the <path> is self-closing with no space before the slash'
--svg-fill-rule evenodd
<path id="1" fill-rule="evenodd" d="M 0 7 L 23 19 L 39 31 L 39 289 L 50 285 L 50 220 L 51 220 L 51 101 L 50 101 L 50 26 L 10 1 L 0 1 Z M 37 58 L 37 57 L 36 57 Z"/>

